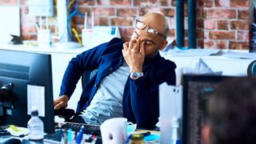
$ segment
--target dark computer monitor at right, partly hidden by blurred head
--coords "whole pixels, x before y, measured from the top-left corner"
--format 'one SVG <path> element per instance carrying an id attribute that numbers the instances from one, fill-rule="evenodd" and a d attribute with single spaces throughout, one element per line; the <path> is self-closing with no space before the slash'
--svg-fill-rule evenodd
<path id="1" fill-rule="evenodd" d="M 182 76 L 182 143 L 202 144 L 201 128 L 206 118 L 206 101 L 216 90 L 218 83 L 228 76 Z"/>

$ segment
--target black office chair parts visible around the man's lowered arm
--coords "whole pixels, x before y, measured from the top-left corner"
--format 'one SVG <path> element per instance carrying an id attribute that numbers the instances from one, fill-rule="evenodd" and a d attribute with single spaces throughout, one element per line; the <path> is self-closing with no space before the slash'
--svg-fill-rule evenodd
<path id="1" fill-rule="evenodd" d="M 90 78 L 93 78 L 95 74 L 97 74 L 98 69 L 94 70 L 85 70 L 82 74 L 82 88 L 89 82 Z M 54 115 L 58 115 L 58 117 L 64 118 L 65 121 L 70 120 L 74 116 L 74 110 L 62 108 L 60 110 L 54 110 Z"/>

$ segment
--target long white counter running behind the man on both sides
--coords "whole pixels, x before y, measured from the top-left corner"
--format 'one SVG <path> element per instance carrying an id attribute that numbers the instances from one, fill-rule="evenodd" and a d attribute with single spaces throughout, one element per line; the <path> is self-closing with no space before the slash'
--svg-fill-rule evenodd
<path id="1" fill-rule="evenodd" d="M 62 77 L 66 70 L 68 62 L 71 58 L 74 58 L 77 54 L 85 51 L 85 48 L 71 49 L 71 50 L 60 50 L 57 48 L 38 48 L 37 46 L 24 46 L 24 45 L 6 45 L 0 46 L 2 50 L 20 50 L 30 51 L 36 53 L 51 54 L 52 56 L 52 71 L 53 71 L 53 90 L 54 98 L 58 97 Z M 239 51 L 239 50 L 236 50 Z M 244 52 L 244 51 L 242 51 Z M 227 58 L 225 56 L 177 56 L 175 54 L 164 55 L 165 58 L 170 59 L 177 65 L 177 81 L 180 81 L 179 70 L 184 67 L 194 67 L 198 62 L 199 58 L 202 58 L 204 62 L 214 71 L 223 71 L 224 75 L 231 76 L 245 76 L 246 69 L 250 62 L 254 59 L 239 59 L 239 58 Z M 69 108 L 75 109 L 77 106 L 78 99 L 82 94 L 82 84 L 78 82 L 77 88 L 69 102 Z"/>

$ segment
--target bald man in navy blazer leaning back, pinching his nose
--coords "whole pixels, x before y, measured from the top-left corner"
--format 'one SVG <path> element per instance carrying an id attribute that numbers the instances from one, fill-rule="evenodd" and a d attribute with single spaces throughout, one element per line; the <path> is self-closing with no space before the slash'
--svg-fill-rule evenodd
<path id="1" fill-rule="evenodd" d="M 158 122 L 158 86 L 175 85 L 176 65 L 158 50 L 167 44 L 168 23 L 162 14 L 146 14 L 136 21 L 130 42 L 114 38 L 73 58 L 62 80 L 58 110 L 66 107 L 84 70 L 98 73 L 83 87 L 78 102 L 79 122 L 100 125 L 108 118 L 124 117 L 141 128 Z"/>

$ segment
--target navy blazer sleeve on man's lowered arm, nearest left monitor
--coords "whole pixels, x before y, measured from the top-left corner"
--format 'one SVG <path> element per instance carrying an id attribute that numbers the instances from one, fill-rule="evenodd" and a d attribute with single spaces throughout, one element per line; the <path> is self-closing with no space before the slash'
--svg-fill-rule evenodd
<path id="1" fill-rule="evenodd" d="M 71 97 L 83 71 L 98 68 L 102 55 L 114 50 L 114 48 L 118 47 L 116 45 L 120 45 L 122 42 L 120 38 L 113 38 L 110 42 L 102 43 L 72 58 L 62 78 L 62 86 L 59 95 L 66 94 Z"/>

